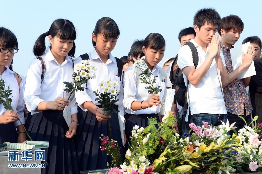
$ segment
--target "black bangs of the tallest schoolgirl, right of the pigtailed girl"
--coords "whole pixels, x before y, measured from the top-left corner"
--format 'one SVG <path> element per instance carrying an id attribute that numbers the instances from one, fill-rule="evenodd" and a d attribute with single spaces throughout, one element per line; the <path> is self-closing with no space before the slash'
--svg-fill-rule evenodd
<path id="1" fill-rule="evenodd" d="M 99 33 L 95 33 L 99 34 Z M 119 28 L 115 22 L 109 21 L 105 25 L 105 27 L 102 29 L 101 33 L 105 38 L 114 38 L 118 39 L 120 35 Z"/>

